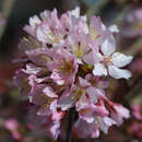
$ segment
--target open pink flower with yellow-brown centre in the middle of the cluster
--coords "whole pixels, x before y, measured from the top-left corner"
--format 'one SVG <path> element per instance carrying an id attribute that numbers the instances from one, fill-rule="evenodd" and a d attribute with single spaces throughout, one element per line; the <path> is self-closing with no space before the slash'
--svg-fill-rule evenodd
<path id="1" fill-rule="evenodd" d="M 66 83 L 72 85 L 78 72 L 78 63 L 74 56 L 63 48 L 58 48 L 54 50 L 52 60 L 48 68 L 56 75 L 51 74 L 51 79 L 59 85 Z"/>

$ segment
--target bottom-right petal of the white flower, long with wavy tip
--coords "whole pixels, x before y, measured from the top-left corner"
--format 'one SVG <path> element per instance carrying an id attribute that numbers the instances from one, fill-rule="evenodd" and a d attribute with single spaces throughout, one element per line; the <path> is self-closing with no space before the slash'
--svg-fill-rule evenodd
<path id="1" fill-rule="evenodd" d="M 118 69 L 115 66 L 108 67 L 108 72 L 114 79 L 129 79 L 131 78 L 131 72 L 128 70 Z"/>

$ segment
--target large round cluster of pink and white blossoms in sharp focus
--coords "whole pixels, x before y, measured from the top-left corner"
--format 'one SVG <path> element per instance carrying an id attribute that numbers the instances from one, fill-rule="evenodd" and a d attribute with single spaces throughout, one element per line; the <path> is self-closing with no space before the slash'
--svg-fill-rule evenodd
<path id="1" fill-rule="evenodd" d="M 107 133 L 110 126 L 129 118 L 127 108 L 105 95 L 107 75 L 131 76 L 121 68 L 132 57 L 115 52 L 116 25 L 107 28 L 95 15 L 88 25 L 79 8 L 58 17 L 55 9 L 31 17 L 24 31 L 28 37 L 20 43 L 23 67 L 16 71 L 14 83 L 37 107 L 42 127 L 54 139 L 72 107 L 79 114 L 73 134 L 80 138 L 97 138 L 100 130 Z"/>

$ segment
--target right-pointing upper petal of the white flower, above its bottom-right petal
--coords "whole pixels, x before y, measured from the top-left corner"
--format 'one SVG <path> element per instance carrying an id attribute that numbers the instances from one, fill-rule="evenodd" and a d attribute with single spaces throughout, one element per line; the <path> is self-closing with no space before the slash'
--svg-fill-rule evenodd
<path id="1" fill-rule="evenodd" d="M 131 60 L 132 60 L 132 56 L 126 56 L 120 52 L 115 52 L 111 56 L 111 61 L 113 61 L 114 66 L 116 66 L 118 68 L 129 64 L 131 62 Z"/>

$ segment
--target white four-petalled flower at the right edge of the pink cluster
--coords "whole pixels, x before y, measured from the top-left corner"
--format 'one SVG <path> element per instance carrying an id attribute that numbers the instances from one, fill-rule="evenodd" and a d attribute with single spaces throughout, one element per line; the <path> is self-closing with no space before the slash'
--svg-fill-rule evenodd
<path id="1" fill-rule="evenodd" d="M 94 64 L 93 74 L 94 75 L 107 75 L 115 79 L 129 79 L 131 76 L 130 71 L 119 69 L 129 64 L 132 60 L 132 56 L 126 56 L 120 52 L 114 52 L 116 50 L 116 43 L 113 36 L 109 39 L 106 39 L 102 46 L 100 51 L 98 52 L 99 62 Z"/>

